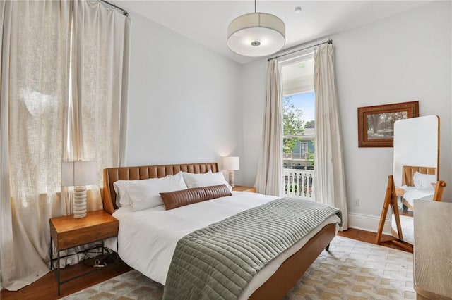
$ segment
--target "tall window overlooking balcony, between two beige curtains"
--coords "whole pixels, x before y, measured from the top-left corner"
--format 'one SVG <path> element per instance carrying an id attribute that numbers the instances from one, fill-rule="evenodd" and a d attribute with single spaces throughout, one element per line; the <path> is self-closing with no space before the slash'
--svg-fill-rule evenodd
<path id="1" fill-rule="evenodd" d="M 314 199 L 315 96 L 312 54 L 281 63 L 285 194 Z"/>

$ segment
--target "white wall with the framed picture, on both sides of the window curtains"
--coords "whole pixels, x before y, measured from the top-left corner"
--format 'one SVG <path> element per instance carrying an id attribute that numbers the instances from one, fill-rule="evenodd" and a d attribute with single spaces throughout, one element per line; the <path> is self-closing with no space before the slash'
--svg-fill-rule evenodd
<path id="1" fill-rule="evenodd" d="M 350 226 L 376 231 L 392 148 L 358 148 L 357 107 L 420 101 L 420 115 L 441 118 L 440 177 L 452 199 L 451 169 L 451 3 L 434 2 L 363 27 L 331 36 Z M 244 66 L 244 180 L 254 182 L 262 135 L 266 60 Z M 360 206 L 353 206 L 353 199 Z"/>

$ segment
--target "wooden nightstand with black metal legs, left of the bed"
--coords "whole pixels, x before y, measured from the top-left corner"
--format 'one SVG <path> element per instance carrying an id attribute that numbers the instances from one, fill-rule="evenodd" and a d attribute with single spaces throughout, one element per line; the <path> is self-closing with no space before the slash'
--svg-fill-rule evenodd
<path id="1" fill-rule="evenodd" d="M 60 281 L 60 251 L 81 246 L 92 242 L 102 241 L 102 254 L 104 251 L 104 239 L 116 237 L 118 235 L 119 221 L 105 211 L 90 211 L 85 218 L 76 219 L 72 215 L 65 215 L 59 218 L 51 218 L 50 223 L 50 268 L 53 270 L 52 242 L 57 248 L 57 282 L 58 296 L 60 285 L 73 280 L 71 277 Z M 88 272 L 91 273 L 94 270 Z M 86 273 L 86 274 L 88 274 Z"/>

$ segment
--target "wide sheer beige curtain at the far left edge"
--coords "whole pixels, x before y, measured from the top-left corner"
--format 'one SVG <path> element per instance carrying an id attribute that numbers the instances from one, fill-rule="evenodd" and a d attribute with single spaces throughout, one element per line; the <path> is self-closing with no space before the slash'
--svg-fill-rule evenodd
<path id="1" fill-rule="evenodd" d="M 16 290 L 49 272 L 49 218 L 65 212 L 59 192 L 71 3 L 1 5 L 1 281 Z"/>

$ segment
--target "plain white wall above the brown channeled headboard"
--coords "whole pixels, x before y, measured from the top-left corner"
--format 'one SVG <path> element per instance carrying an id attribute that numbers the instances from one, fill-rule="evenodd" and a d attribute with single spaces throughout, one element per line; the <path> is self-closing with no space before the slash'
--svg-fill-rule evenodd
<path id="1" fill-rule="evenodd" d="M 242 65 L 130 13 L 126 165 L 242 156 Z"/>

